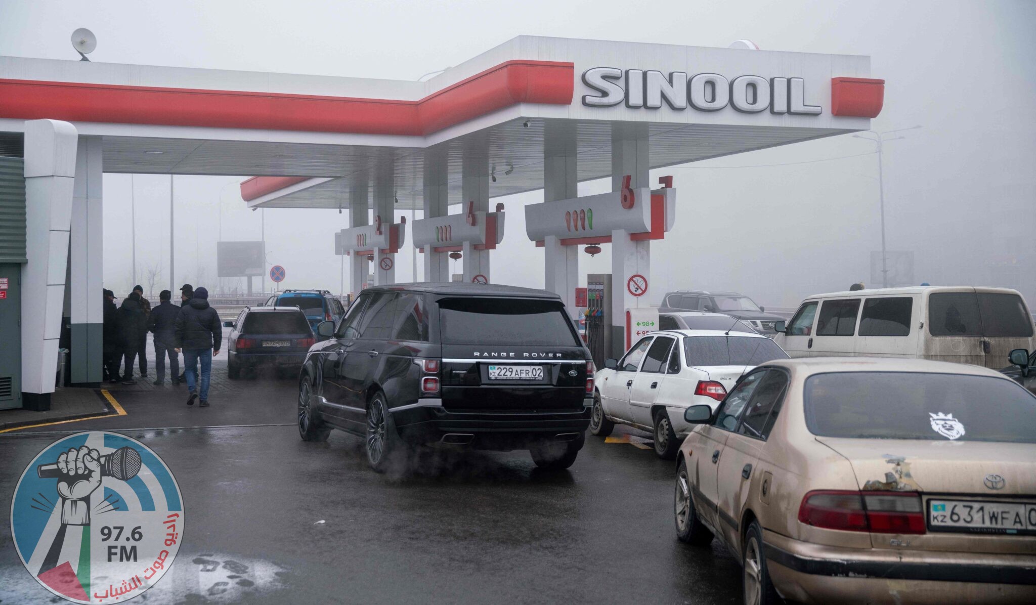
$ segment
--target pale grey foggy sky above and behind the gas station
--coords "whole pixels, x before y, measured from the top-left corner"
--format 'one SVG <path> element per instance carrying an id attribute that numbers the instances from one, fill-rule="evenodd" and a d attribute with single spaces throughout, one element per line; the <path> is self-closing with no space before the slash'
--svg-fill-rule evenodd
<path id="1" fill-rule="evenodd" d="M 1005 285 L 1032 304 L 1034 26 L 1036 3 L 1025 1 L 658 0 L 631 10 L 629 2 L 602 0 L 0 0 L 0 55 L 76 59 L 68 38 L 77 27 L 97 35 L 94 61 L 405 80 L 519 34 L 706 47 L 749 38 L 764 50 L 869 55 L 871 77 L 886 80 L 872 127 L 923 126 L 885 147 L 888 249 L 914 252 L 917 283 Z M 673 231 L 652 243 L 651 298 L 666 289 L 730 289 L 794 307 L 861 280 L 880 286 L 870 279 L 870 252 L 881 248 L 872 151 L 872 143 L 842 136 L 654 171 L 653 180 L 672 174 L 679 193 Z M 176 177 L 177 286 L 217 285 L 221 215 L 225 239 L 259 238 L 262 211 L 244 207 L 239 180 Z M 133 181 L 136 281 L 148 264 L 161 264 L 157 290 L 169 283 L 169 176 Z M 104 186 L 105 285 L 124 294 L 132 287 L 131 177 L 108 174 Z M 581 183 L 579 193 L 608 186 Z M 543 250 L 525 236 L 521 210 L 542 200 L 542 192 L 494 199 L 506 204 L 508 222 L 493 281 L 543 287 Z M 265 210 L 267 260 L 287 268 L 284 286 L 338 292 L 334 233 L 347 226 L 347 212 L 337 210 Z M 411 248 L 408 238 L 397 255 L 398 281 L 411 278 Z M 580 255 L 583 273 L 610 271 L 603 248 L 593 259 Z"/>

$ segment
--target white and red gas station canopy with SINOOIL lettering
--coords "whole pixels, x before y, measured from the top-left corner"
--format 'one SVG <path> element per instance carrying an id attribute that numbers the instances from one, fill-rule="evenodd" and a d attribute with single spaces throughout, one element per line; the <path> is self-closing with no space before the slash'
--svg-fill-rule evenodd
<path id="1" fill-rule="evenodd" d="M 456 204 L 472 154 L 497 197 L 542 189 L 551 144 L 574 145 L 578 180 L 610 175 L 620 128 L 651 168 L 866 129 L 884 93 L 869 63 L 533 36 L 427 82 L 0 57 L 0 133 L 62 119 L 103 139 L 105 172 L 257 175 L 252 206 L 348 208 L 387 171 L 404 209 L 429 149 Z"/>

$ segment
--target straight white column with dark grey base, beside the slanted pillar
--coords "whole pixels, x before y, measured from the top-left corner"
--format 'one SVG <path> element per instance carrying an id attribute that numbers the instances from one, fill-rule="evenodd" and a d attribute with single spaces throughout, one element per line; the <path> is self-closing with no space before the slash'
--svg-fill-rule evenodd
<path id="1" fill-rule="evenodd" d="M 68 241 L 73 383 L 100 382 L 104 356 L 104 248 L 102 141 L 79 139 L 76 182 L 71 200 L 71 231 Z"/>

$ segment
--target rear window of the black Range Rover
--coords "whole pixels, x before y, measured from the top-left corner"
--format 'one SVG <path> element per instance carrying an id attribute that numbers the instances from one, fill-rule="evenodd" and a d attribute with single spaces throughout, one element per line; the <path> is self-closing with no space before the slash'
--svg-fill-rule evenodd
<path id="1" fill-rule="evenodd" d="M 556 300 L 472 297 L 438 305 L 442 344 L 581 346 Z"/>

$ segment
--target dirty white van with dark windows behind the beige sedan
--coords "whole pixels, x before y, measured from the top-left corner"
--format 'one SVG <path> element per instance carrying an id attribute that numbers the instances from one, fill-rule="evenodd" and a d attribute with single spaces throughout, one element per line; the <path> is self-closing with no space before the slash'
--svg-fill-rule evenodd
<path id="1" fill-rule="evenodd" d="M 1006 288 L 914 287 L 816 294 L 774 339 L 793 357 L 920 357 L 999 370 L 1036 348 L 1033 316 Z"/>

